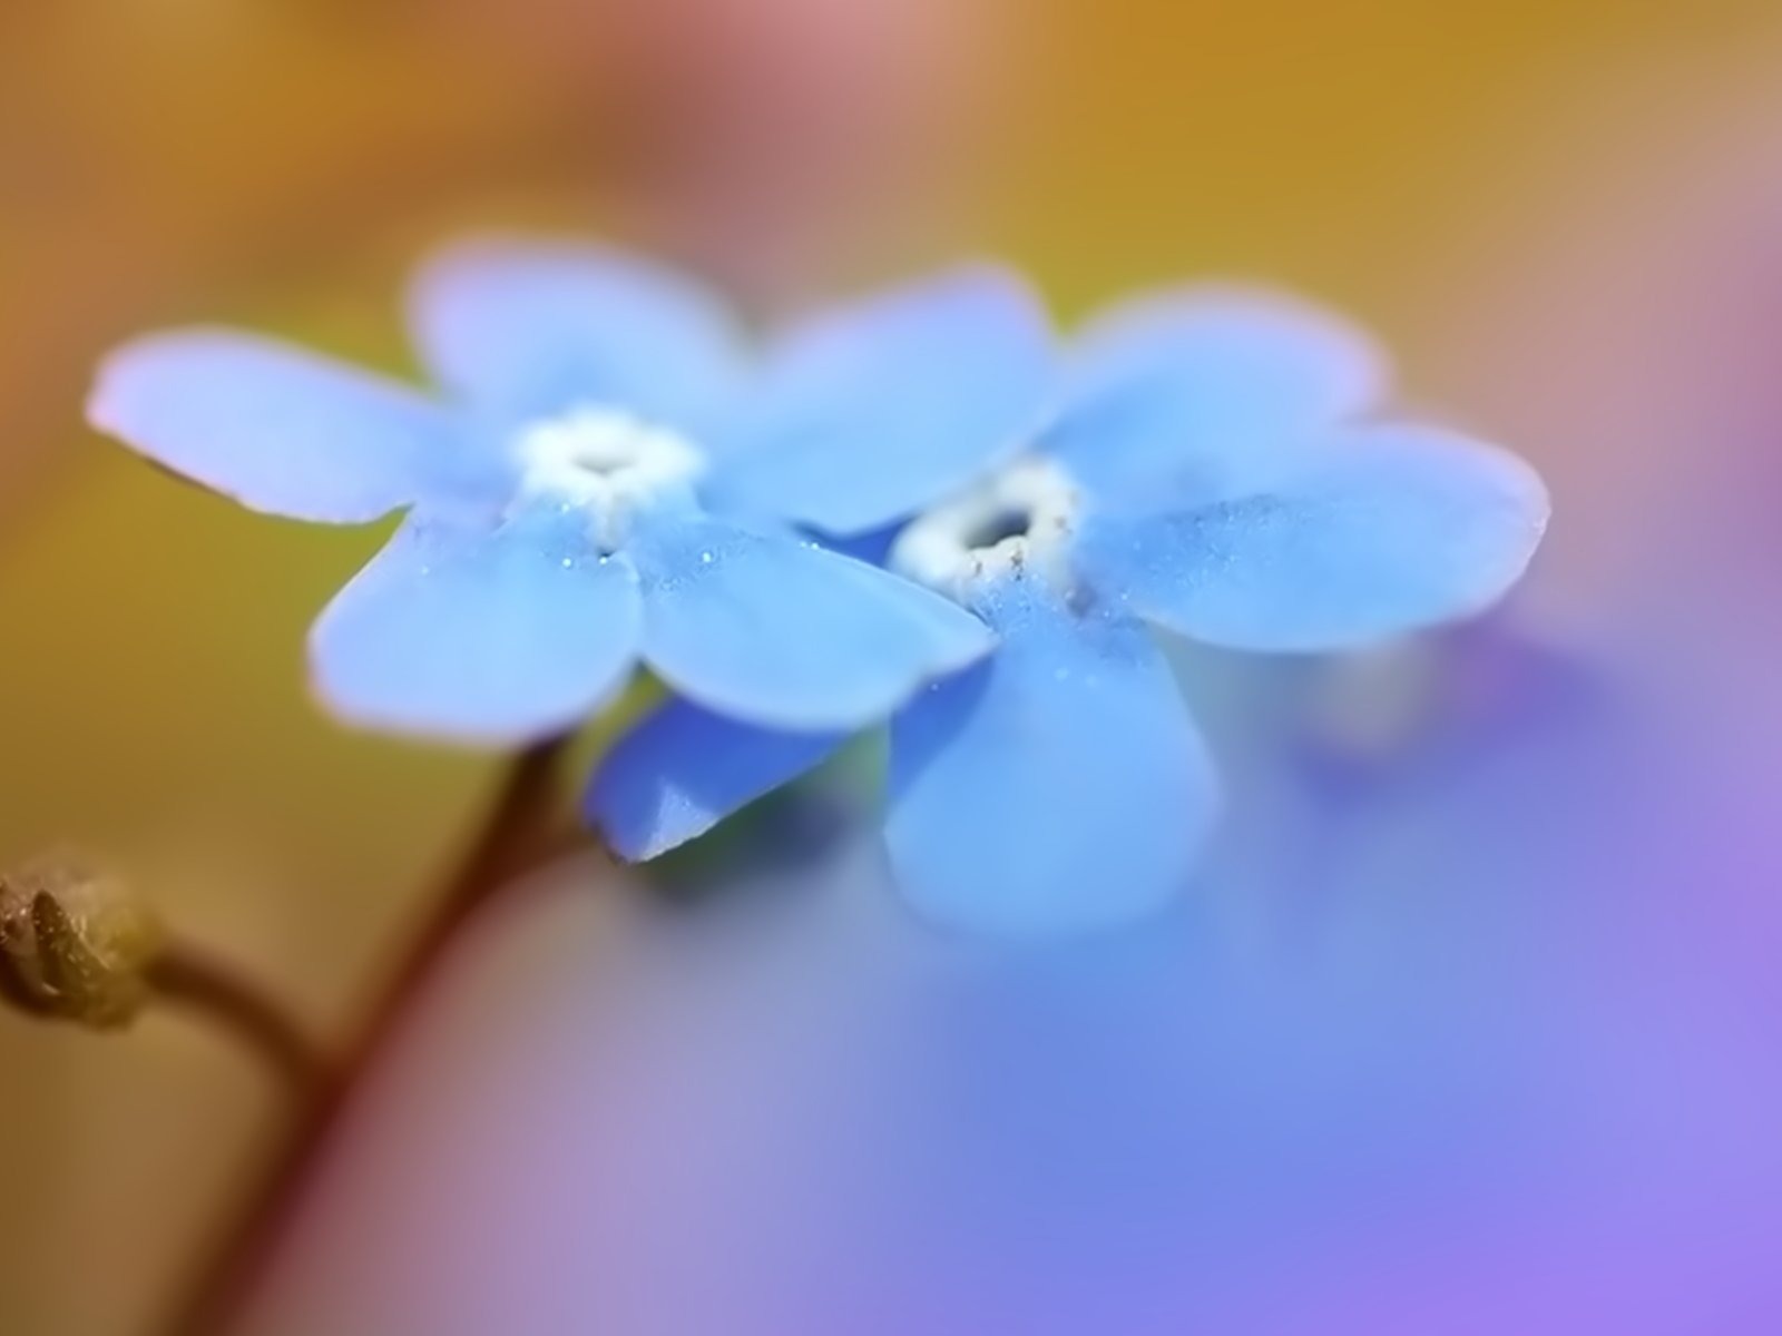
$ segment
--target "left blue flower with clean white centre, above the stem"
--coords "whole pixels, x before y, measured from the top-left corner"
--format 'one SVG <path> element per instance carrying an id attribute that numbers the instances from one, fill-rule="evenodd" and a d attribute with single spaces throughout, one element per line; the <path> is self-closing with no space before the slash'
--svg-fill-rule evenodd
<path id="1" fill-rule="evenodd" d="M 89 408 L 251 509 L 321 524 L 406 511 L 310 639 L 317 695 L 340 718 L 540 737 L 609 702 L 642 661 L 716 714 L 854 729 L 987 652 L 982 623 L 946 599 L 707 506 L 729 422 L 766 438 L 820 429 L 827 410 L 793 387 L 764 403 L 727 314 L 688 281 L 593 248 L 465 242 L 422 267 L 412 324 L 440 397 L 187 330 L 112 354 Z M 761 490 L 743 461 L 723 476 Z"/>

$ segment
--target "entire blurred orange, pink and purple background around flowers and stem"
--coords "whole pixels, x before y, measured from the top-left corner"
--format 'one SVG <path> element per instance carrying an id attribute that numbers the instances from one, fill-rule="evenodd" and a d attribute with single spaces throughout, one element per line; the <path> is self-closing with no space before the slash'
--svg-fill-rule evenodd
<path id="1" fill-rule="evenodd" d="M 249 1329 L 1777 1329 L 1771 11 L 4 7 L 0 857 L 114 851 L 317 1026 L 488 770 L 310 709 L 307 622 L 374 536 L 89 438 L 127 333 L 251 322 L 403 369 L 403 267 L 460 228 L 617 233 L 756 310 L 964 249 L 1064 314 L 1246 274 L 1377 326 L 1415 401 L 1556 493 L 1475 638 L 1354 679 L 1198 670 L 1237 816 L 1149 949 L 1030 976 L 923 935 L 870 859 L 675 912 L 568 873 L 517 896 L 374 1076 Z M 141 1329 L 271 1094 L 168 1017 L 0 1017 L 0 1063 L 29 1149 L 0 1327 Z"/>

